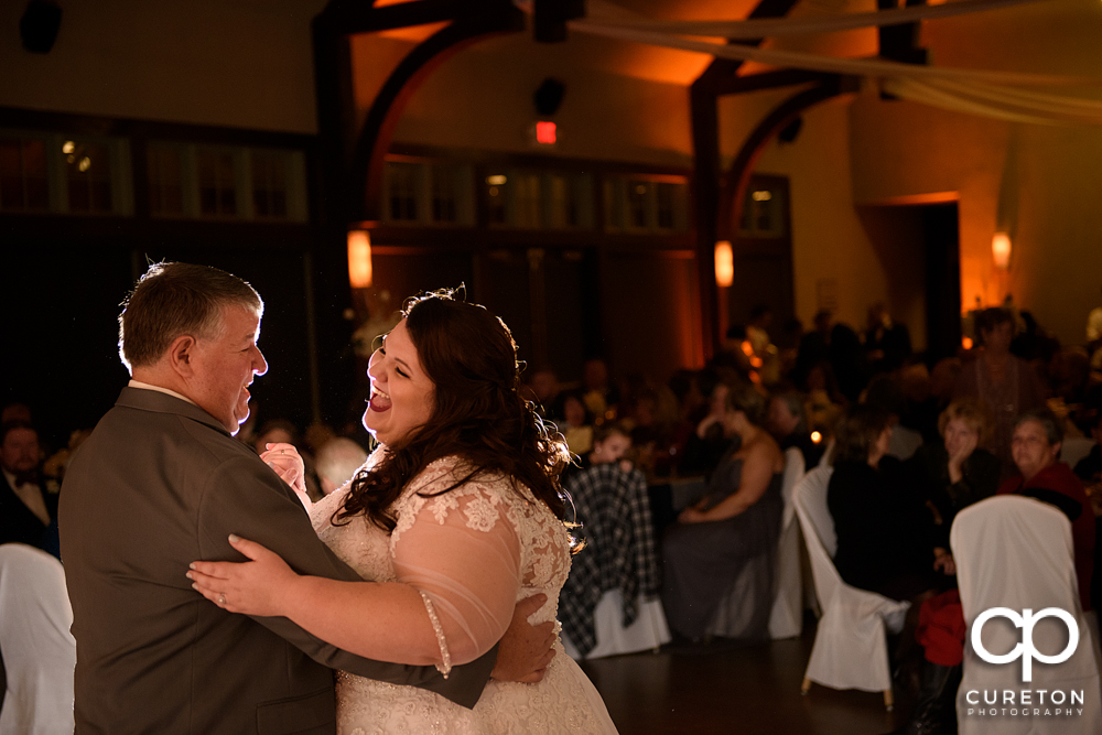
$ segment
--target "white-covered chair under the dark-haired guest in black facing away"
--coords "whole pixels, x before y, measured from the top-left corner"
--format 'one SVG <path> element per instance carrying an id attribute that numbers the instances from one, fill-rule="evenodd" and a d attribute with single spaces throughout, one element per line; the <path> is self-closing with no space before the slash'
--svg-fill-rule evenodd
<path id="1" fill-rule="evenodd" d="M 827 508 L 827 486 L 833 473 L 833 467 L 817 467 L 797 483 L 795 490 L 796 515 L 822 606 L 801 691 L 807 694 L 811 682 L 815 682 L 834 689 L 883 692 L 884 705 L 892 710 L 895 699 L 886 635 L 903 630 L 910 603 L 857 590 L 842 581 L 831 560 L 838 550 L 838 537 Z"/>

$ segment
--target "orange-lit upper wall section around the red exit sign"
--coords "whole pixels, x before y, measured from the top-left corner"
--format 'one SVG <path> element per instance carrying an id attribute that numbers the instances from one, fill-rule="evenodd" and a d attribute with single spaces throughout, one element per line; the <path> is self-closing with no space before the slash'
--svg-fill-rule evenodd
<path id="1" fill-rule="evenodd" d="M 508 153 L 690 166 L 689 93 L 680 84 L 633 75 L 629 58 L 584 36 L 533 43 L 528 33 L 480 41 L 441 64 L 406 107 L 395 141 Z M 623 45 L 623 44 L 620 44 Z M 374 93 L 412 42 L 360 37 L 356 90 L 366 115 Z M 538 147 L 532 94 L 547 77 L 563 82 L 554 149 Z"/>

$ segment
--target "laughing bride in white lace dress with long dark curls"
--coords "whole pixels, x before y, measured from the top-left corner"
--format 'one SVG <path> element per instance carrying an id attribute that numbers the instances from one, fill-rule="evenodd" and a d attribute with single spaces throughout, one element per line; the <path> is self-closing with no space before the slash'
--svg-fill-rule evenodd
<path id="1" fill-rule="evenodd" d="M 322 540 L 377 582 L 300 576 L 236 537 L 253 561 L 195 562 L 191 576 L 230 612 L 284 616 L 350 652 L 446 677 L 501 638 L 519 599 L 545 594 L 532 623 L 554 618 L 572 543 L 560 520 L 565 450 L 517 392 L 516 344 L 500 320 L 451 292 L 403 313 L 368 369 L 364 424 L 380 447 L 311 509 Z M 473 710 L 342 672 L 337 732 L 615 733 L 558 638 L 554 650 L 542 681 L 490 680 Z"/>

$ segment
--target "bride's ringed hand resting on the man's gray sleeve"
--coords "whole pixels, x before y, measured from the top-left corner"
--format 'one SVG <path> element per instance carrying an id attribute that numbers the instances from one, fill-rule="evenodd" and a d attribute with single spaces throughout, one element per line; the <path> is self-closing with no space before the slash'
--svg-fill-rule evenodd
<path id="1" fill-rule="evenodd" d="M 252 561 L 193 562 L 187 572 L 192 586 L 218 607 L 230 613 L 272 617 L 282 615 L 282 604 L 301 577 L 279 554 L 237 536 L 229 543 Z"/>

